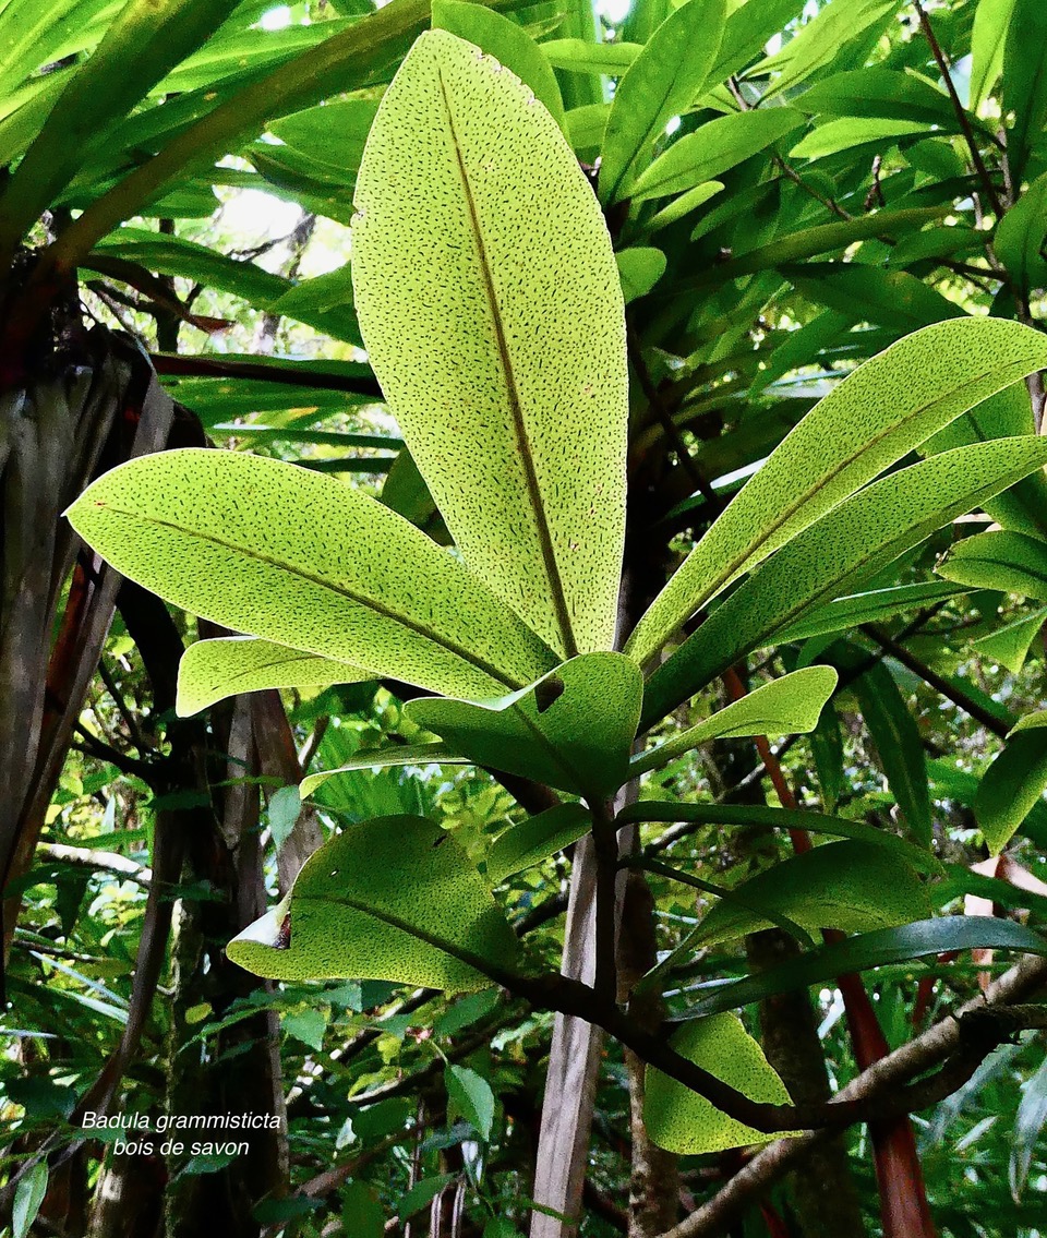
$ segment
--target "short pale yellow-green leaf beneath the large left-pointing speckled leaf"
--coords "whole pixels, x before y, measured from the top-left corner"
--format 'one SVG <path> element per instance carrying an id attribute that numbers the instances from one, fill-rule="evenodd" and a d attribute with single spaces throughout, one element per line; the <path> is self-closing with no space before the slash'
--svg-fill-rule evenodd
<path id="1" fill-rule="evenodd" d="M 189 645 L 178 662 L 176 709 L 187 718 L 238 692 L 264 688 L 327 687 L 374 678 L 348 662 L 317 657 L 301 649 L 254 636 L 219 636 Z"/>

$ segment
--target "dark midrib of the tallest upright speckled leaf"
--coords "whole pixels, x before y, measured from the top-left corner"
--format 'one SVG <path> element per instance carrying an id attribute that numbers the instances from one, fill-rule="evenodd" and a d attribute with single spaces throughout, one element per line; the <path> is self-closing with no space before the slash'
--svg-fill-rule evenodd
<path id="1" fill-rule="evenodd" d="M 505 379 L 506 396 L 509 397 L 509 411 L 512 417 L 512 428 L 516 437 L 516 447 L 520 454 L 520 462 L 524 467 L 524 479 L 527 487 L 527 499 L 530 501 L 531 511 L 535 516 L 535 524 L 537 526 L 538 534 L 538 546 L 542 552 L 542 563 L 546 569 L 546 577 L 549 583 L 549 592 L 552 595 L 553 609 L 556 613 L 557 626 L 559 628 L 561 641 L 563 644 L 563 652 L 567 657 L 574 657 L 578 654 L 578 645 L 574 640 L 574 633 L 571 628 L 571 615 L 567 608 L 567 598 L 564 595 L 563 581 L 559 576 L 559 566 L 556 561 L 556 550 L 552 543 L 552 532 L 549 530 L 548 520 L 546 517 L 546 509 L 542 504 L 542 493 L 538 487 L 538 477 L 535 472 L 535 458 L 531 451 L 531 441 L 527 435 L 527 427 L 524 421 L 524 409 L 520 401 L 520 391 L 516 385 L 516 375 L 512 369 L 512 358 L 509 353 L 509 342 L 505 338 L 505 324 L 501 318 L 501 310 L 498 302 L 498 295 L 494 286 L 494 275 L 491 272 L 490 262 L 488 260 L 488 251 L 484 244 L 483 232 L 480 229 L 480 219 L 476 212 L 476 203 L 473 199 L 473 188 L 469 183 L 469 175 L 465 171 L 465 160 L 462 154 L 462 145 L 458 141 L 458 131 L 454 128 L 454 114 L 450 109 L 450 99 L 447 94 L 447 87 L 443 80 L 443 71 L 437 66 L 437 80 L 439 82 L 441 100 L 443 103 L 444 119 L 447 121 L 447 130 L 450 136 L 450 146 L 454 151 L 454 161 L 458 168 L 458 176 L 462 182 L 462 192 L 465 198 L 465 208 L 469 215 L 469 227 L 473 233 L 473 243 L 476 246 L 476 256 L 480 264 L 480 275 L 484 284 L 484 293 L 488 302 L 488 312 L 490 314 L 491 326 L 494 327 L 495 342 L 498 344 L 499 359 L 501 361 L 502 375 Z"/>

